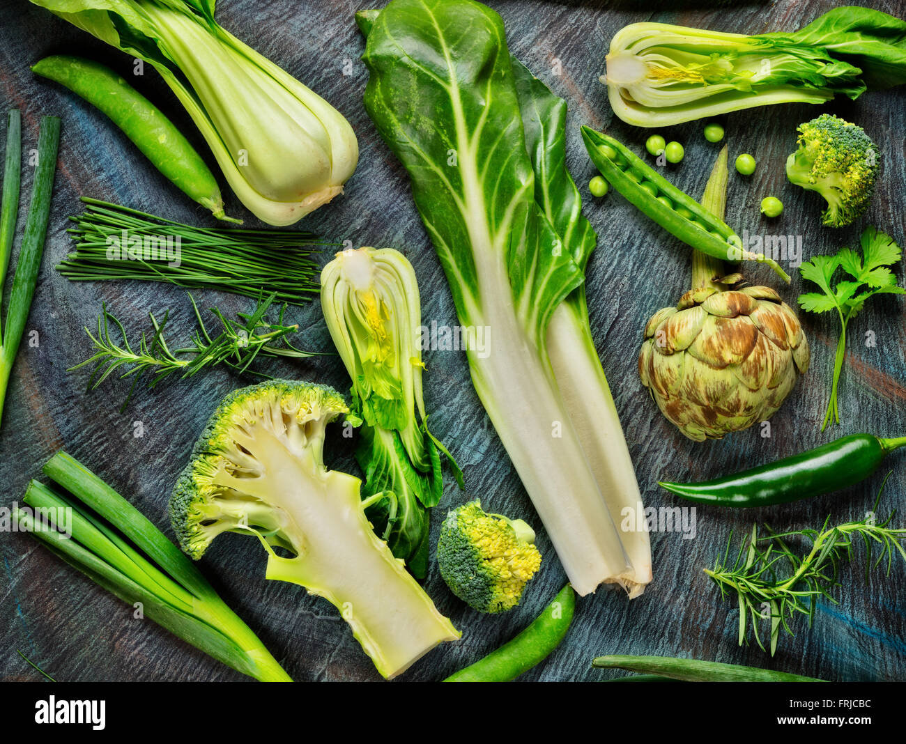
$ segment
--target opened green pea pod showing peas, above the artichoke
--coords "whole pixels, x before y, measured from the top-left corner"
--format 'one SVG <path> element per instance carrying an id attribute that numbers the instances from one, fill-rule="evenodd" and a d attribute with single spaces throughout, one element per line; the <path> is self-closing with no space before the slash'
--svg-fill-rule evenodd
<path id="1" fill-rule="evenodd" d="M 582 138 L 589 157 L 601 171 L 601 175 L 643 215 L 660 224 L 668 233 L 675 235 L 697 251 L 707 253 L 721 261 L 766 263 L 787 284 L 789 283 L 789 274 L 780 268 L 776 261 L 766 258 L 764 253 L 745 250 L 742 240 L 727 223 L 673 186 L 621 142 L 589 127 L 582 128 Z M 610 148 L 615 156 L 610 157 L 606 148 Z M 641 186 L 628 175 L 630 173 L 638 177 L 641 183 L 648 182 L 657 188 Z M 669 201 L 671 206 L 659 201 L 661 197 Z M 679 209 L 688 210 L 691 216 L 679 214 Z"/>

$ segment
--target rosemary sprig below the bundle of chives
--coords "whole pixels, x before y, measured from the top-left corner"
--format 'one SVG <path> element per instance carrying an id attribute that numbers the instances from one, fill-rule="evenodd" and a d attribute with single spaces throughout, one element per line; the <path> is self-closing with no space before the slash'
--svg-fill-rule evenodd
<path id="1" fill-rule="evenodd" d="M 211 313 L 219 320 L 221 326 L 220 333 L 214 337 L 201 319 L 195 298 L 190 294 L 188 299 L 192 302 L 192 310 L 195 311 L 198 320 L 198 329 L 191 339 L 191 346 L 175 349 L 169 347 L 164 338 L 164 329 L 169 320 L 167 310 L 162 320 L 149 313 L 154 333 L 150 337 L 142 333 L 139 346 L 135 348 L 130 344 L 123 324 L 107 310 L 105 304 L 102 306 L 101 315 L 98 316 L 97 334 L 85 329 L 88 338 L 92 339 L 94 354 L 70 367 L 68 371 L 94 365 L 88 379 L 90 390 L 100 386 L 107 377 L 117 371 L 122 372 L 120 377 L 135 377 L 136 382 L 147 373 L 148 386 L 154 387 L 170 375 L 176 374 L 180 378 L 192 377 L 202 369 L 221 364 L 240 374 L 248 372 L 259 377 L 270 377 L 263 372 L 249 369 L 255 358 L 259 356 L 304 358 L 317 354 L 295 348 L 288 340 L 287 337 L 295 333 L 299 327 L 295 324 L 284 324 L 285 303 L 281 306 L 275 322 L 266 319 L 266 313 L 275 301 L 274 294 L 260 300 L 252 312 L 236 313 L 238 320 L 230 320 L 218 308 L 211 308 Z M 120 341 L 114 339 L 116 333 L 119 333 Z M 134 389 L 133 384 L 132 390 Z M 123 408 L 128 403 L 129 397 L 123 403 Z"/>

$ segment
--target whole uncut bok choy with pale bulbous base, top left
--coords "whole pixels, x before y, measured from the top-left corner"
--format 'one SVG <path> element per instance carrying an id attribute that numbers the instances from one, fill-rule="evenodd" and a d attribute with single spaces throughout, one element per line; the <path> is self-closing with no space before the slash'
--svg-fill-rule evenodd
<path id="1" fill-rule="evenodd" d="M 186 107 L 240 201 L 298 222 L 342 193 L 359 147 L 326 100 L 214 20 L 215 0 L 32 0 L 151 64 Z"/>

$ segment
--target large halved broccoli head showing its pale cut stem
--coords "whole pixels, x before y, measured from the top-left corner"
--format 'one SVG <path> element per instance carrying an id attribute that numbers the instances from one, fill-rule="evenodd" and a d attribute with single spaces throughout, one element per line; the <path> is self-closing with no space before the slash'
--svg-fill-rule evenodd
<path id="1" fill-rule="evenodd" d="M 374 534 L 361 481 L 324 466 L 325 428 L 346 412 L 333 388 L 303 382 L 269 380 L 226 396 L 179 477 L 170 519 L 192 558 L 222 532 L 256 535 L 269 556 L 265 577 L 338 607 L 391 677 L 459 634 Z"/>

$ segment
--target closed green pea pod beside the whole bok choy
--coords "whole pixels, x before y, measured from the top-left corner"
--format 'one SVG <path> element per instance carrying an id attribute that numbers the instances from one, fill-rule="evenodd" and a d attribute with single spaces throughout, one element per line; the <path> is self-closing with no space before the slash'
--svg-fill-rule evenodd
<path id="1" fill-rule="evenodd" d="M 218 220 L 241 222 L 224 214 L 217 179 L 188 139 L 116 72 L 98 62 L 63 54 L 45 57 L 34 64 L 32 72 L 59 82 L 101 110 L 154 167 Z"/>

